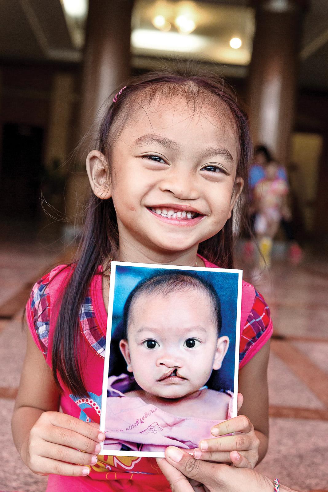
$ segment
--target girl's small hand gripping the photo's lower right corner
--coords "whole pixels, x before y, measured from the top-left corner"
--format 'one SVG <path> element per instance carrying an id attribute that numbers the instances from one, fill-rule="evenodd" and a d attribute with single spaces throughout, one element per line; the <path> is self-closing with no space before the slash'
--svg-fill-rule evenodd
<path id="1" fill-rule="evenodd" d="M 243 397 L 238 393 L 237 412 L 239 412 L 242 402 Z M 225 435 L 233 432 L 239 432 L 239 434 Z M 239 415 L 221 422 L 221 424 L 212 427 L 211 433 L 225 437 L 201 441 L 199 447 L 193 450 L 194 458 L 233 463 L 238 468 L 254 468 L 259 458 L 260 440 L 248 417 Z M 239 453 L 234 453 L 234 451 Z"/>

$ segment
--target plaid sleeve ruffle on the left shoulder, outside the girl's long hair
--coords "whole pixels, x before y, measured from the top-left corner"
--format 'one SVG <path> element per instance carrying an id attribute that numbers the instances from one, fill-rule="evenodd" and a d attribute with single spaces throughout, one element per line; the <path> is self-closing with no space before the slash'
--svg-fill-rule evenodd
<path id="1" fill-rule="evenodd" d="M 32 336 L 38 342 L 39 348 L 44 357 L 47 356 L 48 337 L 50 325 L 50 294 L 47 286 L 50 281 L 50 273 L 38 280 L 32 288 L 30 302 L 27 309 L 30 308 L 30 330 L 34 331 Z"/>

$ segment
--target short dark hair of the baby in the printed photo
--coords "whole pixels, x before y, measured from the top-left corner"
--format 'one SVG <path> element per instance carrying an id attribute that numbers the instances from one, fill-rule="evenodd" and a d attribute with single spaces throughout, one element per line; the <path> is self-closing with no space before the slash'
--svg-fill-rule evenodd
<path id="1" fill-rule="evenodd" d="M 170 294 L 174 291 L 187 291 L 190 289 L 199 289 L 209 296 L 212 308 L 213 318 L 217 326 L 217 334 L 220 335 L 222 328 L 221 302 L 213 285 L 197 275 L 196 273 L 185 270 L 166 270 L 161 273 L 152 275 L 145 280 L 141 280 L 130 292 L 123 309 L 123 338 L 127 339 L 127 326 L 131 305 L 137 298 L 144 294 Z"/>

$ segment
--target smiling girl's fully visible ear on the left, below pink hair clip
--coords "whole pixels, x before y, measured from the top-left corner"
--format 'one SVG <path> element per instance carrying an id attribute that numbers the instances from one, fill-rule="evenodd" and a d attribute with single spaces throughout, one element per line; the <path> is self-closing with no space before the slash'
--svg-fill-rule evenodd
<path id="1" fill-rule="evenodd" d="M 102 200 L 112 196 L 112 186 L 109 176 L 109 166 L 104 154 L 91 151 L 86 161 L 87 173 L 93 193 Z"/>

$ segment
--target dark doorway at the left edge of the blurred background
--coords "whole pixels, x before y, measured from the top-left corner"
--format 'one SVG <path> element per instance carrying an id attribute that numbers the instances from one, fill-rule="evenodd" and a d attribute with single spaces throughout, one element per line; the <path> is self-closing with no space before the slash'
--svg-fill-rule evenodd
<path id="1" fill-rule="evenodd" d="M 40 187 L 43 176 L 42 127 L 4 123 L 0 168 L 0 215 L 2 219 L 40 218 Z"/>

